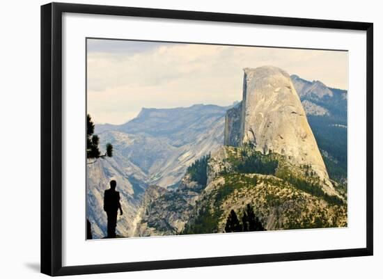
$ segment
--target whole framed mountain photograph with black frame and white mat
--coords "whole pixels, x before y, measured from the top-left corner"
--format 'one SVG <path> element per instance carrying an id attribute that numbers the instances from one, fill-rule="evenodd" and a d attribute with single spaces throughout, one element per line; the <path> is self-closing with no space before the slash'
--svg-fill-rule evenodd
<path id="1" fill-rule="evenodd" d="M 373 255 L 373 24 L 41 7 L 41 271 Z"/>

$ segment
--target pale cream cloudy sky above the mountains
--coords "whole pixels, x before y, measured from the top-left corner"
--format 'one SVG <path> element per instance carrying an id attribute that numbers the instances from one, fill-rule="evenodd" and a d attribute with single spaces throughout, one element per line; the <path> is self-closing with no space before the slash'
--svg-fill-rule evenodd
<path id="1" fill-rule="evenodd" d="M 87 40 L 87 111 L 123 124 L 143 107 L 228 106 L 242 99 L 243 69 L 273 65 L 347 90 L 347 51 Z"/>

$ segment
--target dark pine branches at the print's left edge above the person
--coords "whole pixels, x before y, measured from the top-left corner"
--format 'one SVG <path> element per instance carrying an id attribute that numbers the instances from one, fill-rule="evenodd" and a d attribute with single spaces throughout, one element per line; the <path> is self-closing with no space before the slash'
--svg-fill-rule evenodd
<path id="1" fill-rule="evenodd" d="M 95 125 L 92 121 L 91 115 L 86 115 L 86 158 L 94 159 L 94 161 L 89 162 L 88 164 L 93 164 L 97 159 L 104 157 L 112 157 L 113 156 L 113 145 L 107 143 L 105 154 L 101 154 L 98 149 L 98 143 L 100 143 L 100 138 L 95 132 Z"/>

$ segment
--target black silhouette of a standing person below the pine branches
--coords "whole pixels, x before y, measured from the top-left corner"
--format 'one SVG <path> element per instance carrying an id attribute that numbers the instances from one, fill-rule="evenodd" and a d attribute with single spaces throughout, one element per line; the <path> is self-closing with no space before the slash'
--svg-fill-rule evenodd
<path id="1" fill-rule="evenodd" d="M 120 204 L 120 193 L 116 191 L 116 180 L 111 180 L 111 188 L 104 192 L 104 211 L 108 216 L 108 238 L 116 237 L 117 212 L 120 209 L 120 215 L 123 215 L 123 209 Z"/>

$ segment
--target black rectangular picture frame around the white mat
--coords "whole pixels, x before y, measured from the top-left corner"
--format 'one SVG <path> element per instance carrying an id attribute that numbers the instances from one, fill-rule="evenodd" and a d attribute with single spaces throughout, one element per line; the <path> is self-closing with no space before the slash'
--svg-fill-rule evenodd
<path id="1" fill-rule="evenodd" d="M 62 15 L 83 13 L 166 19 L 192 19 L 210 22 L 235 22 L 279 26 L 304 26 L 326 29 L 366 31 L 366 247 L 345 250 L 317 250 L 298 253 L 240 255 L 153 262 L 127 262 L 63 266 L 62 264 Z M 86 273 L 111 273 L 195 266 L 251 264 L 293 260 L 373 255 L 373 23 L 322 19 L 269 17 L 205 13 L 185 10 L 95 6 L 74 3 L 48 3 L 41 6 L 41 272 L 49 276 Z"/>

